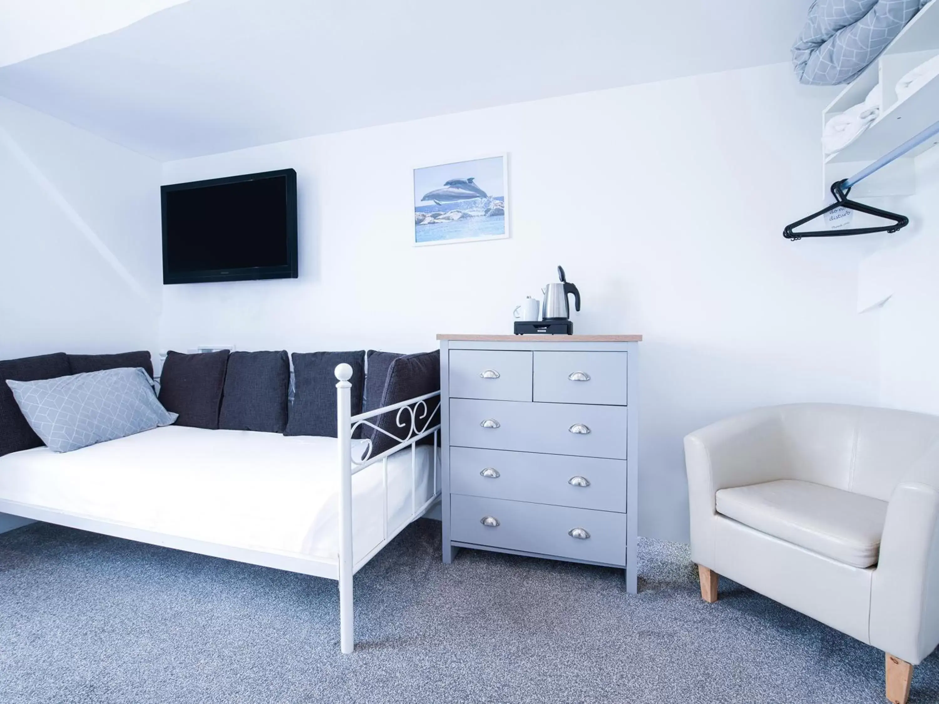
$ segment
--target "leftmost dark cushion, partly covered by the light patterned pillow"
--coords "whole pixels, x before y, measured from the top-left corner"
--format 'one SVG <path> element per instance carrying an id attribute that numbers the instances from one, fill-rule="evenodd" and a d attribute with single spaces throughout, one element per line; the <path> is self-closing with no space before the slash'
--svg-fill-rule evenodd
<path id="1" fill-rule="evenodd" d="M 4 382 L 8 379 L 33 382 L 69 376 L 70 373 L 69 357 L 65 352 L 0 361 L 0 457 L 42 446 L 39 436 L 23 417 L 13 392 Z"/>

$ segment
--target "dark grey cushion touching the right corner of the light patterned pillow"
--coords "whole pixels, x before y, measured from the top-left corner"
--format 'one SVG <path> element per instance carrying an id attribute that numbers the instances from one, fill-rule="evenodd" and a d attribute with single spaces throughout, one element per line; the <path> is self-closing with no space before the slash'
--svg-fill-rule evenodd
<path id="1" fill-rule="evenodd" d="M 177 426 L 218 430 L 228 351 L 168 352 L 160 373 L 160 402 L 178 414 Z"/>

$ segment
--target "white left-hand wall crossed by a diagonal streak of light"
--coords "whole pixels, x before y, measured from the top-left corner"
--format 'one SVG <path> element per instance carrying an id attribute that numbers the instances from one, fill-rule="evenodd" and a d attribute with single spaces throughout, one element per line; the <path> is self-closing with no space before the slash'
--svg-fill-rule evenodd
<path id="1" fill-rule="evenodd" d="M 160 164 L 0 99 L 0 359 L 157 349 Z"/>

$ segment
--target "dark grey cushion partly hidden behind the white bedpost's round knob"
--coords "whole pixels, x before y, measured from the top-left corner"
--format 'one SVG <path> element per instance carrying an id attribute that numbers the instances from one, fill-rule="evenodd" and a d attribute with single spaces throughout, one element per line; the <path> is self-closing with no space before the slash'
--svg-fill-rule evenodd
<path id="1" fill-rule="evenodd" d="M 294 402 L 285 435 L 336 437 L 336 375 L 344 362 L 352 368 L 352 415 L 362 413 L 365 351 L 294 352 Z"/>

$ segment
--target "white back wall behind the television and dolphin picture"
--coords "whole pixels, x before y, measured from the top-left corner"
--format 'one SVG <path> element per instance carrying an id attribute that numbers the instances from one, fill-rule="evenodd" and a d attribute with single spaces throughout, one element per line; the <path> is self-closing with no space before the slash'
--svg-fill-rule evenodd
<path id="1" fill-rule="evenodd" d="M 640 531 L 686 540 L 686 432 L 875 399 L 854 244 L 781 236 L 818 203 L 828 97 L 779 64 L 164 164 L 165 183 L 296 168 L 300 280 L 163 287 L 162 348 L 429 350 L 436 333 L 509 332 L 562 264 L 577 332 L 645 336 Z M 500 151 L 512 238 L 410 246 L 411 168 Z"/>

